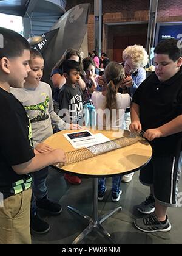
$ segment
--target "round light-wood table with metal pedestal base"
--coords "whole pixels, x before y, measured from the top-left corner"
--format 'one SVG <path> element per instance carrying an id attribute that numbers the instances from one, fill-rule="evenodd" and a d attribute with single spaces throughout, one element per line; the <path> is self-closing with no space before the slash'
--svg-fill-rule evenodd
<path id="1" fill-rule="evenodd" d="M 64 130 L 54 135 L 50 136 L 44 142 L 52 146 L 53 149 L 61 148 L 65 152 L 75 151 L 72 144 L 67 141 L 64 137 L 64 133 L 71 133 L 73 131 Z M 113 140 L 115 138 L 127 137 L 130 135 L 130 132 L 126 130 L 120 130 L 119 132 L 114 131 L 97 131 L 90 130 L 94 133 L 103 133 L 107 138 Z M 77 213 L 78 215 L 83 216 L 83 218 L 89 221 L 89 226 L 76 237 L 73 241 L 73 244 L 79 243 L 83 238 L 92 232 L 93 229 L 97 229 L 104 236 L 109 238 L 110 242 L 113 241 L 110 238 L 110 234 L 101 226 L 107 218 L 112 216 L 118 210 L 121 210 L 122 207 L 117 207 L 115 210 L 106 213 L 105 215 L 98 218 L 98 177 L 110 177 L 117 175 L 129 174 L 130 172 L 138 171 L 147 165 L 152 157 L 152 148 L 150 144 L 144 139 L 141 138 L 135 144 L 126 146 L 124 148 L 116 149 L 115 151 L 107 152 L 106 154 L 98 155 L 96 157 L 89 158 L 87 160 L 73 163 L 72 165 L 53 165 L 54 168 L 59 169 L 60 171 L 67 172 L 69 174 L 78 174 L 81 176 L 89 176 L 93 178 L 93 216 L 85 215 L 84 213 L 79 212 L 77 209 L 67 206 L 69 210 Z"/>

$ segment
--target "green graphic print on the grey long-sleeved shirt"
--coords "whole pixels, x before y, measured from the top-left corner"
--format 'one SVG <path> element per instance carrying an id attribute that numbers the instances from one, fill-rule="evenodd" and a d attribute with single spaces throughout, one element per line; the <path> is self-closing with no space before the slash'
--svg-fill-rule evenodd
<path id="1" fill-rule="evenodd" d="M 25 110 L 35 110 L 35 111 L 41 112 L 39 113 L 38 116 L 30 120 L 31 123 L 34 123 L 37 121 L 44 121 L 49 118 L 49 115 L 47 115 L 46 113 L 46 110 L 49 107 L 49 101 L 50 101 L 49 96 L 47 96 L 44 102 L 41 102 L 36 105 L 24 106 Z"/>

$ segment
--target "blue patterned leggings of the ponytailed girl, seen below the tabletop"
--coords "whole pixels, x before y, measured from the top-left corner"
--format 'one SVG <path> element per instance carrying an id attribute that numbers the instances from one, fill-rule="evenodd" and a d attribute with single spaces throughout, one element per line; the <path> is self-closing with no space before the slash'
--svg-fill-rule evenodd
<path id="1" fill-rule="evenodd" d="M 120 183 L 121 183 L 121 175 L 112 177 L 112 193 L 119 193 L 120 191 Z M 102 177 L 98 179 L 98 191 L 104 193 L 106 188 L 106 177 Z"/>

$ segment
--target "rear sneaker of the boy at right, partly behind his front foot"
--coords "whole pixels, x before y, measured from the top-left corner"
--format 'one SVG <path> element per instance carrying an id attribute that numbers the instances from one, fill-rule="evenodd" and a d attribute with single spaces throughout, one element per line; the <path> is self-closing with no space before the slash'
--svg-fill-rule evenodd
<path id="1" fill-rule="evenodd" d="M 150 214 L 155 211 L 155 198 L 152 194 L 144 202 L 138 205 L 137 210 L 143 214 Z"/>

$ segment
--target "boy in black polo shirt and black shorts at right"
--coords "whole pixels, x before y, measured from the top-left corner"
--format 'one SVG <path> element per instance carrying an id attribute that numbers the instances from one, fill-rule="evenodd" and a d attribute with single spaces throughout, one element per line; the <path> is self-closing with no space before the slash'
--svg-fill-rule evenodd
<path id="1" fill-rule="evenodd" d="M 150 196 L 138 206 L 146 218 L 136 219 L 143 232 L 167 232 L 171 224 L 167 207 L 177 207 L 182 146 L 182 50 L 175 39 L 155 48 L 155 73 L 133 96 L 130 130 L 144 130 L 153 154 L 141 169 L 140 181 L 150 186 Z"/>

